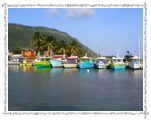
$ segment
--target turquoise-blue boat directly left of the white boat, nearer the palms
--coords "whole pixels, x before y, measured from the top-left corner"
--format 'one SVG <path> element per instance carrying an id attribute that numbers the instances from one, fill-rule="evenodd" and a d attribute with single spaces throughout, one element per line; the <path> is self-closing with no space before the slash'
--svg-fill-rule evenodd
<path id="1" fill-rule="evenodd" d="M 84 57 L 80 58 L 78 62 L 79 68 L 94 68 L 95 63 L 93 63 L 93 58 L 87 57 L 87 53 Z"/>

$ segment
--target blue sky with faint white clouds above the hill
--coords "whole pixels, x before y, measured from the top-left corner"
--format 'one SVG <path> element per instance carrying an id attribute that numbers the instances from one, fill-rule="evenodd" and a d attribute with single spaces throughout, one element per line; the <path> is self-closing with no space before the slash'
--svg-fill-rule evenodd
<path id="1" fill-rule="evenodd" d="M 143 57 L 143 8 L 8 8 L 8 23 L 67 32 L 94 52 Z"/>

